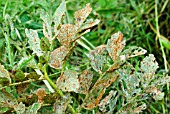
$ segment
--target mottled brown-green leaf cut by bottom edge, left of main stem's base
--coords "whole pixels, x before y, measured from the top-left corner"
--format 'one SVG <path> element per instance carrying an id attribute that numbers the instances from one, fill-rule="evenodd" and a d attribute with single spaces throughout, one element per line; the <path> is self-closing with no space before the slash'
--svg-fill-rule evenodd
<path id="1" fill-rule="evenodd" d="M 72 103 L 70 94 L 64 95 L 64 97 L 56 100 L 54 104 L 54 112 L 56 114 L 66 114 L 66 108 L 70 103 Z"/>

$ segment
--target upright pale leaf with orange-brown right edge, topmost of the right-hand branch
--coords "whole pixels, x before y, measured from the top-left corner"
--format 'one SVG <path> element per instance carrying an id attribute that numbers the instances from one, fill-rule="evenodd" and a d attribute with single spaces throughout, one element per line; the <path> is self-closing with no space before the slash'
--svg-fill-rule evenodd
<path id="1" fill-rule="evenodd" d="M 113 59 L 116 61 L 118 59 L 122 49 L 125 47 L 125 40 L 123 39 L 123 34 L 121 32 L 115 33 L 111 36 L 111 39 L 107 41 L 106 49 Z"/>

